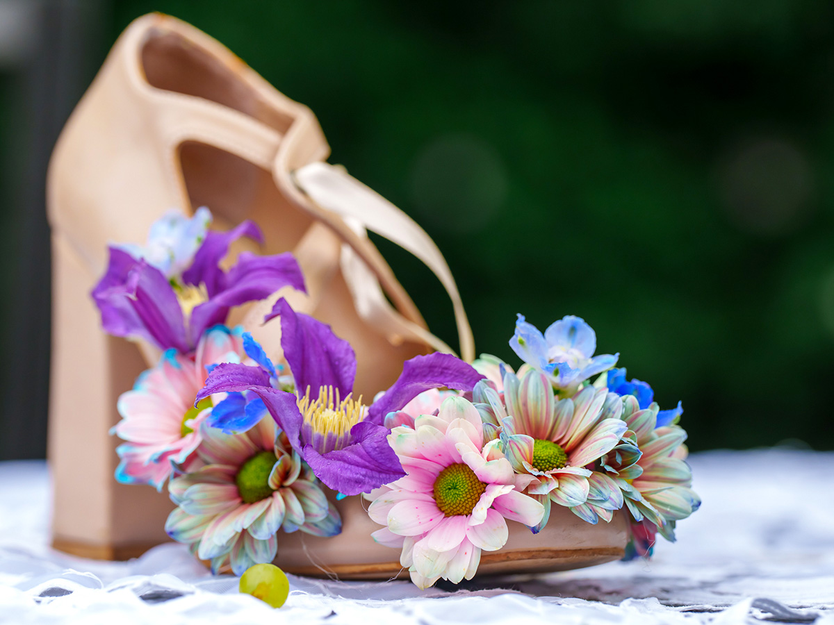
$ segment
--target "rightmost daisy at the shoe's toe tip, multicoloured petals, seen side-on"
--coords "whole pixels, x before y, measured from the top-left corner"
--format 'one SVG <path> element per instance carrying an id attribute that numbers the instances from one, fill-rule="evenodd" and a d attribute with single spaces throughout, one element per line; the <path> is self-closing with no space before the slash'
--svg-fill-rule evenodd
<path id="1" fill-rule="evenodd" d="M 656 403 L 641 408 L 633 395 L 609 393 L 605 413 L 628 427 L 623 440 L 600 458 L 604 470 L 625 495 L 631 513 L 631 557 L 649 556 L 656 534 L 675 541 L 677 521 L 701 506 L 692 490 L 692 472 L 686 464 L 686 432 L 677 425 L 657 427 Z M 639 448 L 636 455 L 633 448 Z"/>

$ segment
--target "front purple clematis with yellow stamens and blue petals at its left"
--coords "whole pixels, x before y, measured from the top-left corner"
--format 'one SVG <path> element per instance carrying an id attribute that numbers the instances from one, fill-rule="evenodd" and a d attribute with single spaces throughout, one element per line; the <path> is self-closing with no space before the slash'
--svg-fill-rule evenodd
<path id="1" fill-rule="evenodd" d="M 281 348 L 296 392 L 281 388 L 273 363 L 246 338 L 246 352 L 259 366 L 218 365 L 196 401 L 230 393 L 208 421 L 224 430 L 244 431 L 269 412 L 315 475 L 344 495 L 369 493 L 405 475 L 388 443 L 385 415 L 430 388 L 470 392 L 484 377 L 450 354 L 418 356 L 404 363 L 399 379 L 368 407 L 353 397 L 356 357 L 347 341 L 328 325 L 295 313 L 283 298 L 267 320 L 274 317 L 281 318 Z"/>

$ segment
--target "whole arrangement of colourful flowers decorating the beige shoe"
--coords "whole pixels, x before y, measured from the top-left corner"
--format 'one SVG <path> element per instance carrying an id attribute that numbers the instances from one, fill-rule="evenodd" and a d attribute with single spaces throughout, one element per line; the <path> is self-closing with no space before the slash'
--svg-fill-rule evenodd
<path id="1" fill-rule="evenodd" d="M 168 483 L 168 535 L 214 571 L 270 562 L 293 532 L 338 535 L 339 500 L 356 495 L 381 526 L 368 539 L 398 549 L 420 587 L 470 579 L 483 552 L 511 529 L 539 534 L 555 507 L 588 527 L 627 515 L 625 555 L 648 557 L 700 505 L 681 404 L 661 411 L 648 384 L 615 368 L 619 354 L 595 355 L 582 319 L 540 333 L 519 315 L 517 372 L 432 353 L 356 397 L 354 349 L 286 299 L 264 318 L 280 353 L 224 325 L 234 306 L 303 291 L 304 278 L 289 254 L 241 253 L 224 270 L 230 244 L 260 231 L 210 222 L 205 209 L 172 213 L 144 248 L 110 248 L 93 298 L 108 333 L 164 350 L 119 399 L 116 478 Z"/>

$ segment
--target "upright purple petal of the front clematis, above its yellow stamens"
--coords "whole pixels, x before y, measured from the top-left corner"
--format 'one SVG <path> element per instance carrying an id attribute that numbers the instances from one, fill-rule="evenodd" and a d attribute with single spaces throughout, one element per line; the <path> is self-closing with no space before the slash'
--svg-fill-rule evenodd
<path id="1" fill-rule="evenodd" d="M 296 313 L 284 298 L 275 303 L 264 321 L 281 318 L 281 348 L 295 379 L 295 388 L 311 398 L 319 397 L 319 388 L 338 388 L 344 398 L 354 388 L 356 354 L 350 343 L 337 337 L 326 323 Z M 400 407 L 401 408 L 401 407 Z"/>

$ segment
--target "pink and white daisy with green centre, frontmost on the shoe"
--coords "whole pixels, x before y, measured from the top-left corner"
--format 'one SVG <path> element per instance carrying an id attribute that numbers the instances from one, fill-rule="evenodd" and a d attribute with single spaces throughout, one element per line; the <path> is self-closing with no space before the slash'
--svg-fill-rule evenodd
<path id="1" fill-rule="evenodd" d="M 506 519 L 534 526 L 544 507 L 516 488 L 497 441 L 484 445 L 480 415 L 464 398 L 446 398 L 437 416 L 394 428 L 391 447 L 407 473 L 372 495 L 369 515 L 384 525 L 377 542 L 402 549 L 412 581 L 471 579 L 480 553 L 507 542 Z"/>

